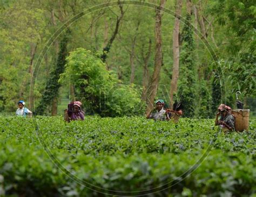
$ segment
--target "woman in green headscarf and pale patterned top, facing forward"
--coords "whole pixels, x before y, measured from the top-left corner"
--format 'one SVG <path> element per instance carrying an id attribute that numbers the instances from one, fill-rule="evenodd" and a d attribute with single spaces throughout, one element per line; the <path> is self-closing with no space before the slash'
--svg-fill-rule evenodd
<path id="1" fill-rule="evenodd" d="M 155 102 L 156 107 L 154 107 L 149 113 L 147 113 L 147 119 L 154 119 L 164 121 L 170 120 L 168 112 L 164 110 L 164 100 L 158 99 Z"/>

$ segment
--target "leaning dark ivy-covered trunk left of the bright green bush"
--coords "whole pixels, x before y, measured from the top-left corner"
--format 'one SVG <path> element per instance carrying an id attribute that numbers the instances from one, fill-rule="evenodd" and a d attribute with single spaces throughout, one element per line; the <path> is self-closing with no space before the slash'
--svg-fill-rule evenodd
<path id="1" fill-rule="evenodd" d="M 53 68 L 53 70 L 50 73 L 50 77 L 46 83 L 45 91 L 43 93 L 43 97 L 38 107 L 36 108 L 36 113 L 39 115 L 42 115 L 45 112 L 46 107 L 52 103 L 52 100 L 58 97 L 58 92 L 60 87 L 58 80 L 59 80 L 60 74 L 64 72 L 64 66 L 66 63 L 65 58 L 68 55 L 67 44 L 68 44 L 68 37 L 67 35 L 65 35 L 59 45 L 59 52 L 58 52 L 58 58 L 56 60 L 56 66 Z"/>

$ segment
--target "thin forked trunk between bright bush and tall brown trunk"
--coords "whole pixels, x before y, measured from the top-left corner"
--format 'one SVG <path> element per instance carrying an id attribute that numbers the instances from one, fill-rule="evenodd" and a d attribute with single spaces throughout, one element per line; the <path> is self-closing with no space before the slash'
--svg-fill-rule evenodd
<path id="1" fill-rule="evenodd" d="M 143 91 L 142 91 L 142 100 L 145 102 L 147 101 L 147 86 L 149 85 L 149 68 L 147 65 L 149 64 L 149 59 L 151 56 L 151 39 L 149 40 L 149 50 L 147 51 L 146 57 L 142 55 L 143 57 L 143 79 L 142 79 L 142 86 L 143 86 Z"/>

